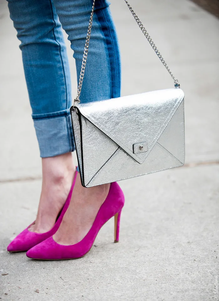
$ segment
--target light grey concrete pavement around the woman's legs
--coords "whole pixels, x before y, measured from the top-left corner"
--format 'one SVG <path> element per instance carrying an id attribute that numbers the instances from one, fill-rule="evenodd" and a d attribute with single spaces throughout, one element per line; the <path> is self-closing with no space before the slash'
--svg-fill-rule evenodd
<path id="1" fill-rule="evenodd" d="M 172 87 L 125 3 L 111 2 L 122 54 L 122 95 Z M 87 256 L 50 262 L 6 251 L 10 239 L 35 217 L 41 170 L 19 42 L 7 3 L 0 0 L 2 300 L 219 298 L 214 293 L 219 274 L 219 20 L 185 0 L 130 4 L 186 94 L 186 165 L 120 182 L 126 204 L 119 244 L 113 243 L 110 220 Z"/>

